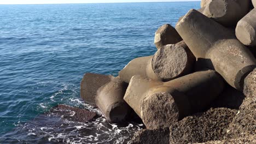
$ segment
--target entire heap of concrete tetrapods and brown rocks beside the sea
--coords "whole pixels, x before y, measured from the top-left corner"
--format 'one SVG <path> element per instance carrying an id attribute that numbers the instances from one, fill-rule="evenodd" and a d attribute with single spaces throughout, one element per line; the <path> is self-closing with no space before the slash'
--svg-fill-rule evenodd
<path id="1" fill-rule="evenodd" d="M 117 77 L 86 73 L 82 99 L 110 123 L 136 113 L 146 129 L 131 143 L 256 143 L 253 5 L 201 1 L 176 28 L 156 31 L 155 55 L 133 59 Z"/>

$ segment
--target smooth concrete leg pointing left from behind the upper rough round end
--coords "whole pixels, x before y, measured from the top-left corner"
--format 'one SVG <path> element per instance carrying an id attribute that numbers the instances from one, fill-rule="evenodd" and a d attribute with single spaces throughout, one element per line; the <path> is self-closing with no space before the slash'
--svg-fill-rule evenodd
<path id="1" fill-rule="evenodd" d="M 152 69 L 153 56 L 138 57 L 128 63 L 123 70 L 119 72 L 120 79 L 129 83 L 133 75 L 141 75 L 154 80 L 162 80 Z"/>

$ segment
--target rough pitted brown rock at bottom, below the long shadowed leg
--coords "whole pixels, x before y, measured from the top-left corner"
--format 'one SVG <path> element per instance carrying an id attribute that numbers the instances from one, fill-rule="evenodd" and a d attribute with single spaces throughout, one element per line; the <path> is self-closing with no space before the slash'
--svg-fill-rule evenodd
<path id="1" fill-rule="evenodd" d="M 170 143 L 200 143 L 222 140 L 237 110 L 210 109 L 185 117 L 170 127 Z"/>

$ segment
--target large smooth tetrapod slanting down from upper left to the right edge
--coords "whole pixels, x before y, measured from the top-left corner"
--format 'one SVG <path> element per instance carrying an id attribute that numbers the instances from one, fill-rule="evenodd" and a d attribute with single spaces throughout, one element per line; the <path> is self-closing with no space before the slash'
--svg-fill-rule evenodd
<path id="1" fill-rule="evenodd" d="M 242 91 L 243 80 L 256 67 L 256 59 L 234 33 L 194 9 L 176 29 L 197 59 L 210 61 L 229 85 Z"/>

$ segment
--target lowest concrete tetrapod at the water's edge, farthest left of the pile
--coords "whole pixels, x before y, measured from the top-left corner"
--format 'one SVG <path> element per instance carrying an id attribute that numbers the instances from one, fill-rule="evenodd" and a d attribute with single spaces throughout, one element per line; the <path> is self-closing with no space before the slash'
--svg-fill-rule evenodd
<path id="1" fill-rule="evenodd" d="M 97 106 L 109 122 L 124 121 L 131 108 L 124 101 L 127 84 L 117 77 L 86 73 L 81 82 L 83 100 Z"/>

